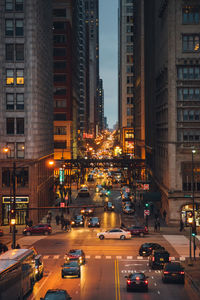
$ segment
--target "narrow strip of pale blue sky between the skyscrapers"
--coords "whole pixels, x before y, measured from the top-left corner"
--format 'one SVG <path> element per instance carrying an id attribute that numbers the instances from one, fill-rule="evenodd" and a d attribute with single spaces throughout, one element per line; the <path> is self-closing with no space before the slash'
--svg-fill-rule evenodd
<path id="1" fill-rule="evenodd" d="M 118 0 L 99 0 L 99 69 L 108 127 L 118 121 Z"/>

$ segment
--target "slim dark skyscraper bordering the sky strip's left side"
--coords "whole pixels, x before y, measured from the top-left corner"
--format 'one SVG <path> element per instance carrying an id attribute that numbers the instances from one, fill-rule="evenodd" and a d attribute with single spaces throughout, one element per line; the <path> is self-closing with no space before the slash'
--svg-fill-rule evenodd
<path id="1" fill-rule="evenodd" d="M 87 43 L 87 128 L 96 134 L 98 125 L 98 87 L 99 87 L 99 0 L 85 0 Z"/>

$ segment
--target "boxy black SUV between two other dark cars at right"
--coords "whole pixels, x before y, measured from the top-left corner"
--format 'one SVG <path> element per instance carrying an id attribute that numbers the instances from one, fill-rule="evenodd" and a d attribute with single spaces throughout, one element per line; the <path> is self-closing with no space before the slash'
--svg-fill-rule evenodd
<path id="1" fill-rule="evenodd" d="M 164 265 L 170 261 L 167 250 L 153 250 L 149 256 L 149 267 L 151 269 L 163 269 Z"/>

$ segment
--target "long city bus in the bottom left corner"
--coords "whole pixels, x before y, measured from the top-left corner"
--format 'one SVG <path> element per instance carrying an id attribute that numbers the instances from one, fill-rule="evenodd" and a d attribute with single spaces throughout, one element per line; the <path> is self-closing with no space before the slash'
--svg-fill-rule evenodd
<path id="1" fill-rule="evenodd" d="M 22 300 L 35 282 L 35 249 L 12 249 L 0 255 L 0 299 Z"/>

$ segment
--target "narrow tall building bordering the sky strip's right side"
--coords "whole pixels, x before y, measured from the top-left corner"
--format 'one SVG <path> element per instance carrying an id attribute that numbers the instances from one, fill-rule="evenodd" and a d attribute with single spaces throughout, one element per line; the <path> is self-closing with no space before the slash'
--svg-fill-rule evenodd
<path id="1" fill-rule="evenodd" d="M 134 7 L 133 0 L 119 0 L 118 121 L 127 154 L 134 152 Z"/>

